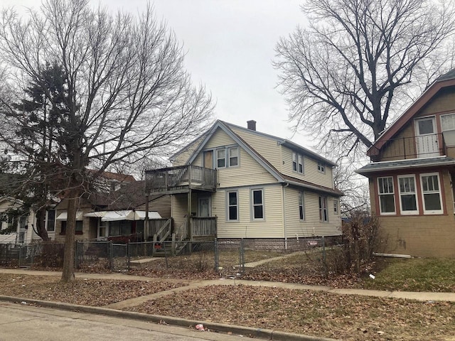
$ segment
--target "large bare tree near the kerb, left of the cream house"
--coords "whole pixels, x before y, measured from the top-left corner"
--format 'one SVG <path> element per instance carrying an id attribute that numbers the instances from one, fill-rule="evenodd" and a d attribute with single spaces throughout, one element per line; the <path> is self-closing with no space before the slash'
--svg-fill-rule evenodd
<path id="1" fill-rule="evenodd" d="M 59 178 L 58 194 L 68 199 L 62 280 L 70 281 L 76 211 L 87 182 L 114 164 L 194 139 L 210 124 L 213 104 L 202 86 L 191 85 L 181 45 L 150 7 L 139 16 L 112 16 L 101 6 L 92 9 L 88 0 L 45 0 L 28 18 L 5 10 L 0 58 L 7 70 L 0 90 L 9 89 L 0 107 L 5 125 L 16 127 L 2 131 L 1 139 L 32 166 L 43 130 L 21 134 L 28 117 L 11 103 L 26 97 L 29 82 L 43 85 L 53 101 L 42 79 L 47 63 L 60 65 L 65 75 L 58 125 L 45 130 L 47 141 L 55 141 L 49 151 L 53 174 L 40 176 Z"/>

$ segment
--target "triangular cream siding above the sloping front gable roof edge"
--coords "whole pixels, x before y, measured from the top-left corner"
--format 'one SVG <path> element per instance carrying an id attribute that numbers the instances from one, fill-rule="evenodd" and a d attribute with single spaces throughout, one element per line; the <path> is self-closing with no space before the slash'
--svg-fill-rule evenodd
<path id="1" fill-rule="evenodd" d="M 240 136 L 247 144 L 252 146 L 259 155 L 265 158 L 269 163 L 272 163 L 274 168 L 278 171 L 282 169 L 282 147 L 278 144 L 276 139 L 261 136 L 254 131 L 245 131 L 235 127 L 231 127 L 232 131 Z"/>

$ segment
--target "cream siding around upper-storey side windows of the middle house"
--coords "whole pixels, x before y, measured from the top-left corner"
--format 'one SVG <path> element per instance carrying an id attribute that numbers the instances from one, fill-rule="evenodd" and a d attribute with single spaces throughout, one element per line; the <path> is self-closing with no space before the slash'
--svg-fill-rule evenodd
<path id="1" fill-rule="evenodd" d="M 310 183 L 316 183 L 327 188 L 333 188 L 332 168 L 324 163 L 325 172 L 321 173 L 318 171 L 318 161 L 314 158 L 309 158 L 305 154 L 304 156 L 304 173 L 297 173 L 292 171 L 292 151 L 291 149 L 282 146 L 283 156 L 283 168 L 282 173 L 284 175 L 292 176 L 301 180 L 309 181 Z"/>

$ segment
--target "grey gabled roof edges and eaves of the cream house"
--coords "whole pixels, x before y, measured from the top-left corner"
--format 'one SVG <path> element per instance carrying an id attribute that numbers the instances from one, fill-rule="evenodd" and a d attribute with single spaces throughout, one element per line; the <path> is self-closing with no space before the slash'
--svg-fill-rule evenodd
<path id="1" fill-rule="evenodd" d="M 232 131 L 232 129 L 231 129 L 232 127 L 235 127 L 237 129 L 245 129 L 245 128 L 242 128 L 240 126 L 235 126 L 234 124 L 229 124 L 229 123 L 226 123 L 224 121 L 217 120 L 215 122 L 215 124 L 213 124 L 213 126 L 204 134 L 203 140 L 198 145 L 198 148 L 196 148 L 196 150 L 191 154 L 190 158 L 188 158 L 187 163 L 188 164 L 193 163 L 193 161 L 196 159 L 198 154 L 201 151 L 203 151 L 203 148 L 205 147 L 205 144 L 207 144 L 207 142 L 210 140 L 210 138 L 213 136 L 213 134 L 215 134 L 215 131 L 217 131 L 218 129 L 221 129 L 226 134 L 228 134 L 228 136 L 230 136 L 230 138 L 233 141 L 235 141 L 240 147 L 242 147 L 248 154 L 250 154 L 250 156 L 253 159 L 255 159 L 255 161 L 257 161 L 257 163 L 259 163 L 259 165 L 261 165 L 266 171 L 268 171 L 270 173 L 270 175 L 272 175 L 277 180 L 277 182 L 279 182 L 279 183 L 291 183 L 293 185 L 298 185 L 298 186 L 301 186 L 303 188 L 316 190 L 316 191 L 319 191 L 319 192 L 322 192 L 322 193 L 330 193 L 332 195 L 338 195 L 338 196 L 343 195 L 343 193 L 341 193 L 341 191 L 339 191 L 339 190 L 336 190 L 336 189 L 333 189 L 333 188 L 327 188 L 327 187 L 320 186 L 320 185 L 316 185 L 314 183 L 309 183 L 307 181 L 299 180 L 297 178 L 291 178 L 291 177 L 289 177 L 287 175 L 284 175 L 284 174 L 280 173 L 277 170 L 277 168 L 275 168 L 272 165 L 272 163 L 269 163 L 269 161 L 267 161 L 266 158 L 264 158 L 261 154 L 259 154 L 257 151 L 255 151 L 255 148 L 252 148 L 252 146 L 250 146 L 250 144 L 248 144 L 244 139 L 242 139 L 240 136 L 235 134 L 235 132 Z M 259 133 L 258 131 L 253 131 L 253 130 L 250 130 L 250 129 L 245 129 L 245 131 L 247 131 L 248 133 L 251 133 L 251 134 L 259 134 L 259 135 L 264 136 L 264 137 L 266 137 L 268 139 L 275 139 L 280 144 L 290 144 L 290 141 L 287 141 L 287 140 L 284 140 L 284 139 L 280 139 L 279 137 L 276 137 L 276 136 Z M 294 147 L 293 148 L 294 150 L 298 150 L 298 151 L 301 151 L 303 153 L 309 154 L 309 155 L 313 156 L 314 158 L 316 158 L 316 160 L 321 160 L 321 161 L 323 161 L 324 163 L 327 163 L 330 166 L 336 166 L 336 163 L 333 163 L 332 161 L 328 161 L 326 158 L 322 158 L 321 156 L 317 155 L 316 153 L 313 153 L 313 152 L 309 151 L 308 149 L 306 149 L 306 148 L 304 148 L 302 146 L 299 146 L 298 144 L 294 144 L 294 143 L 291 143 L 291 144 Z"/>

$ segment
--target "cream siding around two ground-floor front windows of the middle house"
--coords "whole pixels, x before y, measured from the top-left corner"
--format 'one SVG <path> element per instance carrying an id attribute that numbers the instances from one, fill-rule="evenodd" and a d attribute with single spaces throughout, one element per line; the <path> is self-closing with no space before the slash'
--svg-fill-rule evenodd
<path id="1" fill-rule="evenodd" d="M 252 221 L 250 193 L 253 188 L 264 191 L 264 220 Z M 226 221 L 226 191 L 219 190 L 213 195 L 212 209 L 213 215 L 218 216 L 218 238 L 284 238 L 281 185 L 232 190 L 238 192 L 238 222 Z"/>

